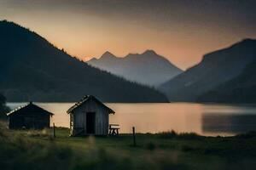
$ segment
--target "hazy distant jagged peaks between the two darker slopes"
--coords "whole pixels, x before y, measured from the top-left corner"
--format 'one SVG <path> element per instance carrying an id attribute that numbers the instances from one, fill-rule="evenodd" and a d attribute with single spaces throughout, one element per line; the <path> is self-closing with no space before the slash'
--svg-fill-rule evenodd
<path id="1" fill-rule="evenodd" d="M 132 82 L 154 87 L 183 72 L 153 50 L 147 50 L 143 54 L 127 54 L 123 58 L 106 52 L 101 58 L 90 59 L 87 63 Z"/>

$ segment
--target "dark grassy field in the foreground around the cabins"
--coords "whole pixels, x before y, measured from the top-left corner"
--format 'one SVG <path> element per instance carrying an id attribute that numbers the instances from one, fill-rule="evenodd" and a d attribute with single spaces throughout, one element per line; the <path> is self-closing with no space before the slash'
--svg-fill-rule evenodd
<path id="1" fill-rule="evenodd" d="M 67 128 L 0 130 L 4 169 L 254 169 L 256 133 L 203 137 L 195 133 L 68 137 Z"/>

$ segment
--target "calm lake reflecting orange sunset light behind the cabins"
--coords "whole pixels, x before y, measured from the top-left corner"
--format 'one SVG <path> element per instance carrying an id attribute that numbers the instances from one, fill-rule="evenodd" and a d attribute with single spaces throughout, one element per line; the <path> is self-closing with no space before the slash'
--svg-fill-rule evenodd
<path id="1" fill-rule="evenodd" d="M 35 103 L 55 114 L 52 122 L 58 127 L 69 127 L 67 109 L 73 103 Z M 15 109 L 25 103 L 8 103 Z M 171 131 L 195 132 L 202 135 L 233 135 L 256 130 L 256 105 L 202 105 L 194 103 L 170 104 L 113 104 L 116 113 L 109 122 L 120 125 L 120 133 Z"/>

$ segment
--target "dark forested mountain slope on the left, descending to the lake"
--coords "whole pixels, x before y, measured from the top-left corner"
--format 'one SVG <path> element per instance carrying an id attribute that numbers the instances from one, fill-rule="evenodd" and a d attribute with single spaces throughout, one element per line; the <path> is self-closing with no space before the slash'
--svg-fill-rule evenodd
<path id="1" fill-rule="evenodd" d="M 104 102 L 167 102 L 166 96 L 100 71 L 44 37 L 0 21 L 0 93 L 8 101 L 77 101 L 86 94 Z"/>

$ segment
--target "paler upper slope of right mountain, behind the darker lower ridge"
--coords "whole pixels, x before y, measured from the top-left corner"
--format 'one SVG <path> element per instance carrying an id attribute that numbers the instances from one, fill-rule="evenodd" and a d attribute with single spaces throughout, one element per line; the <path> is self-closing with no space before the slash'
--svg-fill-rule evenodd
<path id="1" fill-rule="evenodd" d="M 195 101 L 201 94 L 239 76 L 255 58 L 256 40 L 242 40 L 206 54 L 198 65 L 162 84 L 160 90 L 172 101 Z"/>

